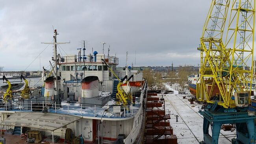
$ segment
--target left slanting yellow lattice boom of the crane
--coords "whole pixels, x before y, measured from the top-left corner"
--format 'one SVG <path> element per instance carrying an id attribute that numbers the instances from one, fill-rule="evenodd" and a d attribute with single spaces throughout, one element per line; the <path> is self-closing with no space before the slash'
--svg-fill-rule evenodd
<path id="1" fill-rule="evenodd" d="M 203 102 L 215 103 L 213 96 L 223 96 L 222 75 L 223 67 L 229 61 L 229 51 L 224 48 L 223 31 L 228 14 L 229 0 L 212 0 L 208 16 L 204 23 L 200 38 L 201 62 L 200 83 L 197 83 L 197 99 Z"/>

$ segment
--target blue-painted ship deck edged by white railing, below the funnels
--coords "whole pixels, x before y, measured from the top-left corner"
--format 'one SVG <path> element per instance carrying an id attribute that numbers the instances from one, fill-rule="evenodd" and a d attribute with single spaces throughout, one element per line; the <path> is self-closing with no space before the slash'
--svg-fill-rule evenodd
<path id="1" fill-rule="evenodd" d="M 47 101 L 48 102 L 48 101 Z M 34 103 L 33 105 L 38 104 L 38 106 L 32 106 L 33 111 L 42 111 L 45 103 Z M 24 106 L 28 105 L 28 106 Z M 44 105 L 44 106 L 43 106 Z M 58 104 L 47 103 L 49 113 L 58 113 L 58 114 L 69 114 L 74 116 L 83 116 L 83 117 L 93 117 L 93 119 L 123 119 L 123 118 L 131 118 L 141 107 L 141 103 L 136 103 L 133 105 L 127 105 L 127 107 L 121 107 L 120 113 L 118 113 L 113 106 L 113 101 L 109 101 L 108 105 L 98 106 L 98 105 L 90 105 L 83 106 L 81 103 L 68 103 L 61 102 L 61 107 L 58 107 Z M 89 105 L 89 104 L 86 104 Z M 13 109 L 8 109 L 7 107 L 13 107 Z M 128 109 L 127 109 L 128 108 Z M 6 111 L 6 109 L 8 109 Z M 106 111 L 106 109 L 108 111 Z M 13 102 L 5 107 L 0 108 L 0 112 L 2 113 L 22 113 L 22 112 L 31 112 L 31 103 L 20 103 Z"/>

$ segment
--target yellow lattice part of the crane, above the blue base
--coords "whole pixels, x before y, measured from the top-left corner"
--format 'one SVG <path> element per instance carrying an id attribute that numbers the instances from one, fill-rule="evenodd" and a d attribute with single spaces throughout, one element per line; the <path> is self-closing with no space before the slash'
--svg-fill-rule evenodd
<path id="1" fill-rule="evenodd" d="M 249 91 L 252 81 L 254 46 L 254 1 L 233 0 L 223 43 L 224 26 L 230 0 L 212 0 L 200 38 L 200 81 L 197 99 L 234 108 L 234 93 Z M 236 95 L 236 94 L 235 94 Z M 250 99 L 243 100 L 248 104 Z"/>

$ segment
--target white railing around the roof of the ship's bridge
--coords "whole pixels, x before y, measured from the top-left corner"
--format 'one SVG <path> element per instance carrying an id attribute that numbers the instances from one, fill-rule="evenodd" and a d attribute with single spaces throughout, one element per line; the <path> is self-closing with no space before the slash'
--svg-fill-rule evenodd
<path id="1" fill-rule="evenodd" d="M 106 56 L 106 55 L 85 55 L 86 59 L 83 59 L 83 55 L 72 55 L 72 56 L 63 56 L 59 57 L 59 63 L 77 63 L 77 62 L 102 62 L 102 59 L 106 61 L 106 63 L 114 63 L 119 64 L 118 57 L 114 56 Z"/>

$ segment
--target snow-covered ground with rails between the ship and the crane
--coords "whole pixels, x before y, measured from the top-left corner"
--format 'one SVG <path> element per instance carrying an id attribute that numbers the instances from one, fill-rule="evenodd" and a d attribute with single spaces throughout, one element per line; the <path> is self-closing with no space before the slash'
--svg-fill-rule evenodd
<path id="1" fill-rule="evenodd" d="M 198 113 L 201 104 L 190 104 L 187 98 L 192 97 L 189 94 L 178 94 L 175 90 L 177 84 L 172 86 L 165 85 L 168 90 L 174 90 L 174 94 L 165 94 L 165 110 L 171 111 L 170 125 L 173 127 L 173 133 L 178 138 L 178 144 L 198 144 L 203 140 L 203 117 Z M 162 96 L 160 94 L 159 96 Z M 183 99 L 186 96 L 186 99 Z M 176 115 L 178 115 L 178 122 L 176 122 Z M 211 128 L 209 128 L 211 135 Z M 225 137 L 224 137 L 225 136 Z M 236 136 L 236 131 L 223 131 L 219 136 L 219 144 L 231 144 L 231 139 Z"/>

